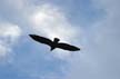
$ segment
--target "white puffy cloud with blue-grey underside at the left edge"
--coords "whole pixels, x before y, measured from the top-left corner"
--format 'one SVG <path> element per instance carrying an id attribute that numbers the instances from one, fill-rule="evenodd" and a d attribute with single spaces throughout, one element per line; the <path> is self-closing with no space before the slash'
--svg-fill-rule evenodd
<path id="1" fill-rule="evenodd" d="M 0 23 L 0 60 L 12 51 L 12 45 L 18 40 L 21 30 L 11 23 Z"/>

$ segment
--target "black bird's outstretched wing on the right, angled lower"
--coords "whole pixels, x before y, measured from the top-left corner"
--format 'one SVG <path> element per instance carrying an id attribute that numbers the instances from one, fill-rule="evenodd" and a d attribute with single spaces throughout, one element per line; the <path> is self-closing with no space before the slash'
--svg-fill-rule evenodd
<path id="1" fill-rule="evenodd" d="M 64 50 L 69 50 L 69 51 L 78 51 L 80 50 L 80 48 L 68 45 L 68 43 L 58 43 L 58 48 L 64 49 Z"/>

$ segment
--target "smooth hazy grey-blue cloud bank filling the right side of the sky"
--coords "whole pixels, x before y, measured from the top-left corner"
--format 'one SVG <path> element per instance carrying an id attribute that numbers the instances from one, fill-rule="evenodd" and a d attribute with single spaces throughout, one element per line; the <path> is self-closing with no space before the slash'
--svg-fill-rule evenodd
<path id="1" fill-rule="evenodd" d="M 66 79 L 119 79 L 120 1 L 92 0 L 106 16 L 89 29 L 84 53 L 74 56 Z M 86 30 L 84 30 L 86 32 Z"/>

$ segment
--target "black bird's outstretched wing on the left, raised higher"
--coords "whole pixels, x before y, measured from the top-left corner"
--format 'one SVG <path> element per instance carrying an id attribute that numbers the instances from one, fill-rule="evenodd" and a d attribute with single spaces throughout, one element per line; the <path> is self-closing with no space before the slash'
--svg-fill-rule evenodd
<path id="1" fill-rule="evenodd" d="M 29 34 L 33 40 L 38 41 L 38 42 L 41 42 L 41 43 L 44 43 L 44 45 L 48 45 L 48 46 L 51 46 L 52 45 L 52 41 L 48 38 L 44 38 L 44 37 L 40 37 L 40 36 L 37 36 L 37 34 Z"/>

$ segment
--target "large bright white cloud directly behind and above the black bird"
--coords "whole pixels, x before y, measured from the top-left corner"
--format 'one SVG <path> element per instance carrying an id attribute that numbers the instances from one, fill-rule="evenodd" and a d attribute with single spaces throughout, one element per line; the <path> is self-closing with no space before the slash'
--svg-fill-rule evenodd
<path id="1" fill-rule="evenodd" d="M 71 42 L 78 34 L 78 29 L 68 22 L 63 12 L 51 4 L 43 4 L 36 7 L 36 11 L 30 14 L 30 22 L 32 23 L 33 32 L 39 36 L 46 36 L 53 40 L 60 38 L 61 41 Z M 57 50 L 58 51 L 58 50 Z M 54 51 L 59 58 L 69 56 L 69 52 Z"/>

